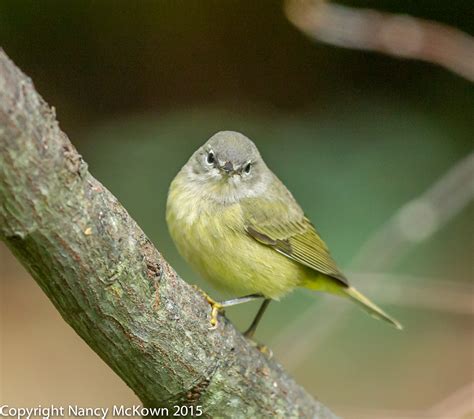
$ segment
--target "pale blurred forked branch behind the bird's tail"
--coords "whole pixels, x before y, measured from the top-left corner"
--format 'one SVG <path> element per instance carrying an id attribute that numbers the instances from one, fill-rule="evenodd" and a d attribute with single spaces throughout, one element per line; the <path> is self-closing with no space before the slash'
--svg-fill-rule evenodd
<path id="1" fill-rule="evenodd" d="M 349 278 L 353 278 L 355 284 L 370 280 L 368 293 L 374 298 L 376 296 L 376 301 L 472 315 L 474 300 L 471 284 L 431 279 L 419 281 L 414 276 L 397 277 L 375 272 L 388 271 L 411 246 L 430 238 L 466 208 L 473 197 L 474 153 L 471 153 L 427 191 L 399 208 L 366 240 L 351 263 L 351 268 L 358 268 L 359 272 L 349 275 Z M 368 273 L 361 273 L 360 269 L 367 269 Z M 322 304 L 308 309 L 281 330 L 277 346 L 295 341 L 286 350 L 292 368 L 304 364 L 314 348 L 327 340 L 329 335 L 337 333 L 343 320 L 347 320 L 352 308 L 347 304 L 334 307 L 331 302 L 330 298 L 325 297 Z M 330 312 L 331 316 L 325 316 L 324 322 L 314 326 L 314 319 L 323 317 L 325 312 Z M 403 319 L 401 321 L 403 323 Z M 299 334 L 302 329 L 306 332 Z M 295 334 L 299 334 L 297 340 Z"/>

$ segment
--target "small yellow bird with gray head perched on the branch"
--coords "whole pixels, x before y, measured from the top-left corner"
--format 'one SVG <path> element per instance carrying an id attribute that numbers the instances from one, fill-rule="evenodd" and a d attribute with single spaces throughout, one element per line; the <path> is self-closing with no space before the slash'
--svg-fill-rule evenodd
<path id="1" fill-rule="evenodd" d="M 171 183 L 166 220 L 188 263 L 240 295 L 221 303 L 207 296 L 214 327 L 223 307 L 263 298 L 251 337 L 271 300 L 303 287 L 348 297 L 402 328 L 349 285 L 290 191 L 238 132 L 218 132 L 191 156 Z"/>

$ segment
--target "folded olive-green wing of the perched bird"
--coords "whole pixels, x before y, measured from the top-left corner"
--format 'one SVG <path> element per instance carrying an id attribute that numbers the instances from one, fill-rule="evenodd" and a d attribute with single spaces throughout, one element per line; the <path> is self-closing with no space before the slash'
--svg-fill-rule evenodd
<path id="1" fill-rule="evenodd" d="M 326 244 L 289 192 L 286 199 L 281 200 L 247 199 L 242 202 L 242 208 L 246 231 L 255 240 L 349 285 Z"/>

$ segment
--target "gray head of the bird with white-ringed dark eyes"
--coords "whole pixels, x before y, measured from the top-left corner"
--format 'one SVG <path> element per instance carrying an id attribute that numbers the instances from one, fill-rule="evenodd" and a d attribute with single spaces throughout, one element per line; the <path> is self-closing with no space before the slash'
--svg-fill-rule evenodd
<path id="1" fill-rule="evenodd" d="M 213 135 L 193 154 L 185 169 L 188 180 L 226 202 L 262 193 L 271 176 L 255 144 L 234 131 Z"/>

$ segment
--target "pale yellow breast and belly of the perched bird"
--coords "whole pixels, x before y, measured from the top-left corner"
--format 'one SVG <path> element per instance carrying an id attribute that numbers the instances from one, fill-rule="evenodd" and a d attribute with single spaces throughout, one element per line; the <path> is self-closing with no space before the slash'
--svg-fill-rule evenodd
<path id="1" fill-rule="evenodd" d="M 188 263 L 217 288 L 278 299 L 301 282 L 305 269 L 248 236 L 240 217 L 237 206 L 201 212 L 191 222 L 169 217 L 170 232 Z"/>

